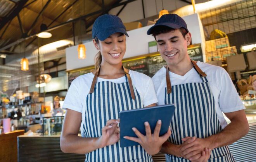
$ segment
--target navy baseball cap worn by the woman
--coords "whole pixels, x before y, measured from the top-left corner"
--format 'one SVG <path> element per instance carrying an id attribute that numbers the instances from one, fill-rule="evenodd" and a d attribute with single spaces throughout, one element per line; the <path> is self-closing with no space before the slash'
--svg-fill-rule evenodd
<path id="1" fill-rule="evenodd" d="M 97 37 L 99 40 L 103 41 L 107 39 L 109 35 L 117 32 L 123 33 L 129 37 L 125 25 L 119 17 L 104 14 L 98 17 L 92 26 L 92 39 Z"/>

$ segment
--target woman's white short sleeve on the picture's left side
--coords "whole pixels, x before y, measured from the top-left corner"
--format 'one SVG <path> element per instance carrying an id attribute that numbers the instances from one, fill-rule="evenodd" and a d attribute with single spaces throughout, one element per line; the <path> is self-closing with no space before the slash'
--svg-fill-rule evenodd
<path id="1" fill-rule="evenodd" d="M 78 78 L 76 78 L 71 83 L 71 86 L 69 87 L 69 89 L 67 91 L 67 95 L 65 97 L 62 108 L 63 109 L 68 108 L 68 109 L 82 113 L 83 105 L 80 100 L 80 94 L 78 91 L 78 86 L 79 86 L 78 83 L 79 83 Z"/>

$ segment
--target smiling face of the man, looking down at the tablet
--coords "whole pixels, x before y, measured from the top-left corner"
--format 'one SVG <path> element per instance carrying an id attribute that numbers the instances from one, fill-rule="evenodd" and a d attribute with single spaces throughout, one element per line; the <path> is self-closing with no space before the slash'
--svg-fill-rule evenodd
<path id="1" fill-rule="evenodd" d="M 175 29 L 158 34 L 155 38 L 159 52 L 168 66 L 182 66 L 182 62 L 190 61 L 187 54 L 187 46 L 191 41 L 190 33 L 184 38 L 180 30 Z"/>

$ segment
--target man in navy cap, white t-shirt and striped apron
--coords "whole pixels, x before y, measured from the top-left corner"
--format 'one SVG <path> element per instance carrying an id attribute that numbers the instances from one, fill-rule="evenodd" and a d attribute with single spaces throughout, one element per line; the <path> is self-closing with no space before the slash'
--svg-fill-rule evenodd
<path id="1" fill-rule="evenodd" d="M 227 145 L 246 135 L 249 126 L 228 73 L 221 67 L 190 60 L 187 46 L 191 34 L 176 14 L 163 15 L 147 34 L 155 37 L 168 65 L 152 78 L 158 105 L 176 106 L 171 136 L 161 148 L 166 161 L 200 161 L 203 150 L 210 149 L 205 160 L 233 162 Z M 227 124 L 222 112 L 231 123 Z"/>

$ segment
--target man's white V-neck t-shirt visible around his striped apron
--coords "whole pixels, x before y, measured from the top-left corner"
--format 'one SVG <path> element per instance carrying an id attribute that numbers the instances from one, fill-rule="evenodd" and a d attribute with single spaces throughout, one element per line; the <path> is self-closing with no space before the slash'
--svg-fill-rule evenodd
<path id="1" fill-rule="evenodd" d="M 245 109 L 245 107 L 225 69 L 200 61 L 197 61 L 197 66 L 207 74 L 206 78 L 213 92 L 217 117 L 220 121 L 221 127 L 225 128 L 227 126 L 227 122 L 223 113 L 242 110 Z M 190 69 L 190 71 L 188 71 L 184 76 L 171 73 L 170 71 L 169 74 L 172 86 L 186 83 L 202 83 L 202 79 L 194 68 Z M 163 67 L 152 77 L 158 99 L 158 105 L 164 105 L 166 88 L 165 75 L 166 68 Z"/>

